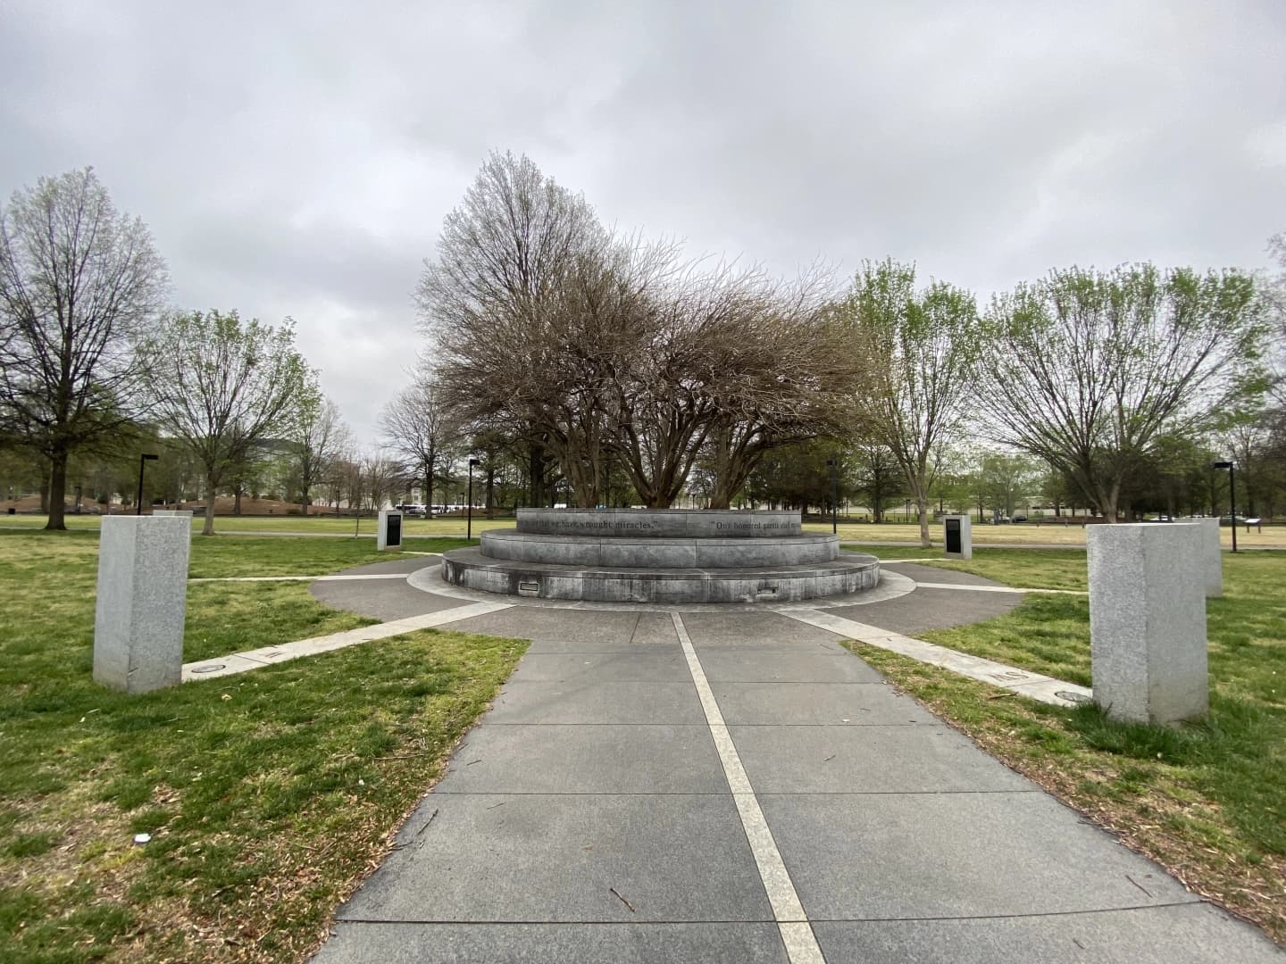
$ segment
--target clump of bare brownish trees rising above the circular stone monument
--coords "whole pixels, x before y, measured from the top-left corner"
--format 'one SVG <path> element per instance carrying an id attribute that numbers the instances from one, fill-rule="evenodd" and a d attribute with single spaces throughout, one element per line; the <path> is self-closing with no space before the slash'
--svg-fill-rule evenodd
<path id="1" fill-rule="evenodd" d="M 494 154 L 418 298 L 444 402 L 534 441 L 534 497 L 548 447 L 575 504 L 603 501 L 611 459 L 666 506 L 707 442 L 727 505 L 764 451 L 832 427 L 849 369 L 805 290 L 604 231 L 530 161 Z"/>

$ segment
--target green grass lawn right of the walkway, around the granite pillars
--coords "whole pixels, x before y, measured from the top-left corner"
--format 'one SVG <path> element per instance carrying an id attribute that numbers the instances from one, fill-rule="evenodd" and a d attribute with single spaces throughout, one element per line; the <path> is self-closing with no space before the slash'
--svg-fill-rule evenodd
<path id="1" fill-rule="evenodd" d="M 1065 555 L 985 550 L 941 564 L 1071 587 Z M 1075 555 L 1083 571 L 1084 553 Z M 989 752 L 1286 942 L 1286 558 L 1224 557 L 1224 596 L 1206 612 L 1210 715 L 1175 727 L 1114 724 L 1093 706 L 1049 707 L 850 645 Z M 1033 595 L 1006 616 L 923 638 L 1091 684 L 1083 596 Z"/>

